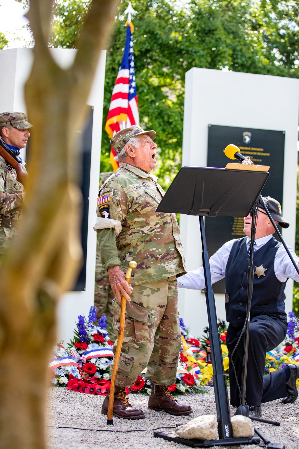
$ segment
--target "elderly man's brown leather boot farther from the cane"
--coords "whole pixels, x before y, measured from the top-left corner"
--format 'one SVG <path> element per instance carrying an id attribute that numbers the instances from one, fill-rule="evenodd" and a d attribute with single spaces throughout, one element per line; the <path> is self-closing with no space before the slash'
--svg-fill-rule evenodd
<path id="1" fill-rule="evenodd" d="M 190 415 L 190 405 L 179 404 L 166 385 L 152 383 L 152 393 L 148 399 L 148 408 L 156 412 L 166 412 L 171 415 Z"/>

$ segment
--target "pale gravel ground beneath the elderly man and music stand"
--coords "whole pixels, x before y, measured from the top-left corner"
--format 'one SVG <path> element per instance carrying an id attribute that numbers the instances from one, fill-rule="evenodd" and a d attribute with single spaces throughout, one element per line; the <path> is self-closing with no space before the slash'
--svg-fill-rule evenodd
<path id="1" fill-rule="evenodd" d="M 86 395 L 72 392 L 61 387 L 49 388 L 48 400 L 48 447 L 50 449 L 154 449 L 154 448 L 187 448 L 185 445 L 172 443 L 153 437 L 156 427 L 175 426 L 177 423 L 187 423 L 189 420 L 203 414 L 216 414 L 213 388 L 207 388 L 205 394 L 187 394 L 178 401 L 190 404 L 193 414 L 188 416 L 172 416 L 165 412 L 155 412 L 147 409 L 148 396 L 130 394 L 134 407 L 143 409 L 145 419 L 129 421 L 114 417 L 114 426 L 107 426 L 107 417 L 101 415 L 103 396 Z M 234 414 L 234 409 L 231 410 Z M 299 448 L 299 399 L 294 404 L 283 405 L 273 401 L 263 405 L 263 417 L 281 421 L 281 426 L 271 426 L 255 423 L 255 426 L 272 442 L 283 443 L 286 449 Z M 110 432 L 89 431 L 65 427 L 80 427 L 81 429 L 104 429 Z M 112 430 L 112 432 L 111 432 Z M 143 432 L 117 433 L 116 431 L 145 430 Z M 165 433 L 170 430 L 162 430 Z M 236 446 L 227 446 L 231 449 Z M 242 448 L 258 448 L 257 445 L 239 446 Z M 215 446 L 214 446 L 215 448 Z"/>

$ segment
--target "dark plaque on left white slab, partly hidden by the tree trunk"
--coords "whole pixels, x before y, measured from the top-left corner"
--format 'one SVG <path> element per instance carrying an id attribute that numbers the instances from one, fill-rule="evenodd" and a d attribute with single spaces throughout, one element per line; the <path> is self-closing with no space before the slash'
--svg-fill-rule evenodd
<path id="1" fill-rule="evenodd" d="M 81 191 L 83 196 L 83 211 L 82 211 L 82 227 L 81 227 L 81 244 L 83 250 L 83 266 L 79 273 L 77 282 L 74 286 L 74 291 L 85 290 L 86 285 L 86 261 L 87 261 L 87 232 L 88 232 L 88 210 L 89 210 L 89 186 L 90 186 L 90 171 L 91 171 L 91 143 L 92 143 L 92 121 L 93 121 L 93 107 L 87 106 L 87 123 L 85 128 L 78 129 L 76 132 L 82 135 L 82 173 L 81 173 Z"/>

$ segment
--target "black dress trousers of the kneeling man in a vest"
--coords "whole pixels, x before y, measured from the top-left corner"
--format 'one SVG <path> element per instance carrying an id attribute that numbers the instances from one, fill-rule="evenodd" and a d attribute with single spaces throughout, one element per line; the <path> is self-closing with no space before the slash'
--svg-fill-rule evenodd
<path id="1" fill-rule="evenodd" d="M 229 326 L 226 335 L 226 345 L 229 350 L 230 403 L 240 405 L 239 390 L 234 374 L 234 362 L 239 386 L 242 384 L 242 366 L 244 351 L 244 333 L 234 352 L 242 328 Z M 287 321 L 279 314 L 262 314 L 252 318 L 249 326 L 249 348 L 246 384 L 246 403 L 258 407 L 262 402 L 273 401 L 286 397 L 285 370 L 273 371 L 264 376 L 266 352 L 272 351 L 286 336 Z"/>

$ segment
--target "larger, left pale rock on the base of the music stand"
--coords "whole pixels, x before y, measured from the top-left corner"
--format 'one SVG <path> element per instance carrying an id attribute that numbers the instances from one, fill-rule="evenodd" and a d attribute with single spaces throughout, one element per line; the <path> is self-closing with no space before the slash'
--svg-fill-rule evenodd
<path id="1" fill-rule="evenodd" d="M 178 436 L 186 439 L 216 440 L 218 436 L 217 419 L 215 415 L 202 415 L 189 423 L 175 429 Z"/>

